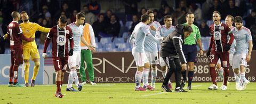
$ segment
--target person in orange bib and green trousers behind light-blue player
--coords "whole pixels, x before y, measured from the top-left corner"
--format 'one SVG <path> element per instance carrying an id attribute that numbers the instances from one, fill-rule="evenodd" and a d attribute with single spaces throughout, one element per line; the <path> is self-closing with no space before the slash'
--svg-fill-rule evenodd
<path id="1" fill-rule="evenodd" d="M 94 81 L 94 69 L 93 69 L 93 65 L 92 65 L 92 52 L 95 52 L 95 47 L 96 47 L 96 43 L 95 43 L 95 36 L 94 36 L 94 32 L 93 32 L 93 28 L 89 23 L 85 23 L 84 25 L 84 30 L 83 30 L 83 36 L 85 38 L 85 41 L 92 45 L 93 50 L 89 50 L 89 48 L 87 46 L 85 46 L 85 44 L 81 43 L 81 68 L 79 69 L 80 72 L 80 76 L 82 79 L 82 85 L 86 84 L 86 76 L 85 76 L 85 64 L 84 61 L 86 62 L 86 66 L 87 66 L 87 72 L 89 75 L 89 79 L 90 79 L 90 83 L 92 85 L 95 85 L 95 81 Z"/>

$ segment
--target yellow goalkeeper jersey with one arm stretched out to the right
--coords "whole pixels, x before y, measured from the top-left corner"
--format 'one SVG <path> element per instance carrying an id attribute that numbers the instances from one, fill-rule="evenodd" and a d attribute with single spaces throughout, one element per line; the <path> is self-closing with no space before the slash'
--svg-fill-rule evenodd
<path id="1" fill-rule="evenodd" d="M 23 22 L 23 23 L 20 24 L 20 26 L 21 26 L 21 29 L 23 31 L 24 36 L 27 37 L 27 38 L 30 38 L 30 37 L 35 38 L 36 31 L 49 33 L 49 31 L 51 29 L 51 28 L 42 27 L 42 26 L 38 25 L 37 23 L 33 23 L 33 22 L 28 22 L 28 23 Z M 37 45 L 36 45 L 35 41 L 26 42 L 26 41 L 22 40 L 22 46 L 23 46 L 23 48 L 29 48 L 29 47 L 36 47 L 37 48 Z"/>

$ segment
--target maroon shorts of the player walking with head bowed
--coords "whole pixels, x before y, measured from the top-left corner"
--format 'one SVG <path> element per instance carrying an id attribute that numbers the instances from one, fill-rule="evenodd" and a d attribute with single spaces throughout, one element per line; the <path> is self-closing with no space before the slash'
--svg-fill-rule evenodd
<path id="1" fill-rule="evenodd" d="M 68 57 L 52 58 L 52 61 L 53 61 L 53 66 L 54 66 L 55 71 L 59 71 L 59 70 L 66 71 L 67 65 L 68 65 Z"/>

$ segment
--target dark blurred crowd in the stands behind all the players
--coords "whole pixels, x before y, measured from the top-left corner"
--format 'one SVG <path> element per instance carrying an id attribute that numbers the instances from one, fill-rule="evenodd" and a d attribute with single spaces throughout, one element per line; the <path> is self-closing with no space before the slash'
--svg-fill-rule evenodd
<path id="1" fill-rule="evenodd" d="M 87 4 L 83 4 L 86 2 Z M 1 0 L 0 1 L 0 35 L 6 33 L 6 27 L 12 21 L 12 11 L 28 12 L 30 21 L 36 22 L 43 27 L 52 27 L 57 25 L 60 15 L 68 17 L 68 24 L 75 21 L 75 15 L 78 12 L 85 14 L 85 22 L 92 25 L 95 37 L 122 37 L 124 32 L 130 35 L 140 22 L 140 16 L 146 13 L 147 8 L 138 8 L 141 0 L 122 0 L 124 13 L 116 13 L 113 10 L 101 10 L 101 5 L 97 0 Z M 169 5 L 170 1 L 162 0 L 160 8 L 150 8 L 154 11 L 155 21 L 164 25 L 164 15 L 172 15 L 173 26 L 186 22 L 186 13 L 193 12 L 195 14 L 195 25 L 199 27 L 202 37 L 210 36 L 208 21 L 212 20 L 213 11 L 219 11 L 222 19 L 226 15 L 237 15 L 243 17 L 244 26 L 252 32 L 253 49 L 256 49 L 256 0 L 175 0 L 174 4 Z M 147 2 L 150 3 L 150 2 Z M 104 12 L 102 12 L 104 11 Z M 125 15 L 124 18 L 122 18 Z M 131 23 L 127 29 L 122 29 L 128 22 Z M 43 44 L 47 33 L 36 33 L 39 43 Z M 2 45 L 3 44 L 3 45 Z M 7 44 L 8 45 L 8 44 Z M 6 46 L 7 46 L 6 45 Z M 4 42 L 1 43 L 1 51 L 5 47 Z"/>

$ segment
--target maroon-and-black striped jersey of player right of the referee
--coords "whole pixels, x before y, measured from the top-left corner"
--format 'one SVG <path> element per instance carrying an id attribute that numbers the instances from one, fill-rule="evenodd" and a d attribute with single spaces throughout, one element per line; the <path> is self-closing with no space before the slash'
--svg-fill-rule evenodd
<path id="1" fill-rule="evenodd" d="M 212 35 L 210 48 L 214 51 L 224 52 L 226 45 L 231 45 L 234 41 L 234 35 L 225 23 L 215 26 L 210 26 L 210 34 Z M 228 39 L 228 35 L 230 38 Z"/>

